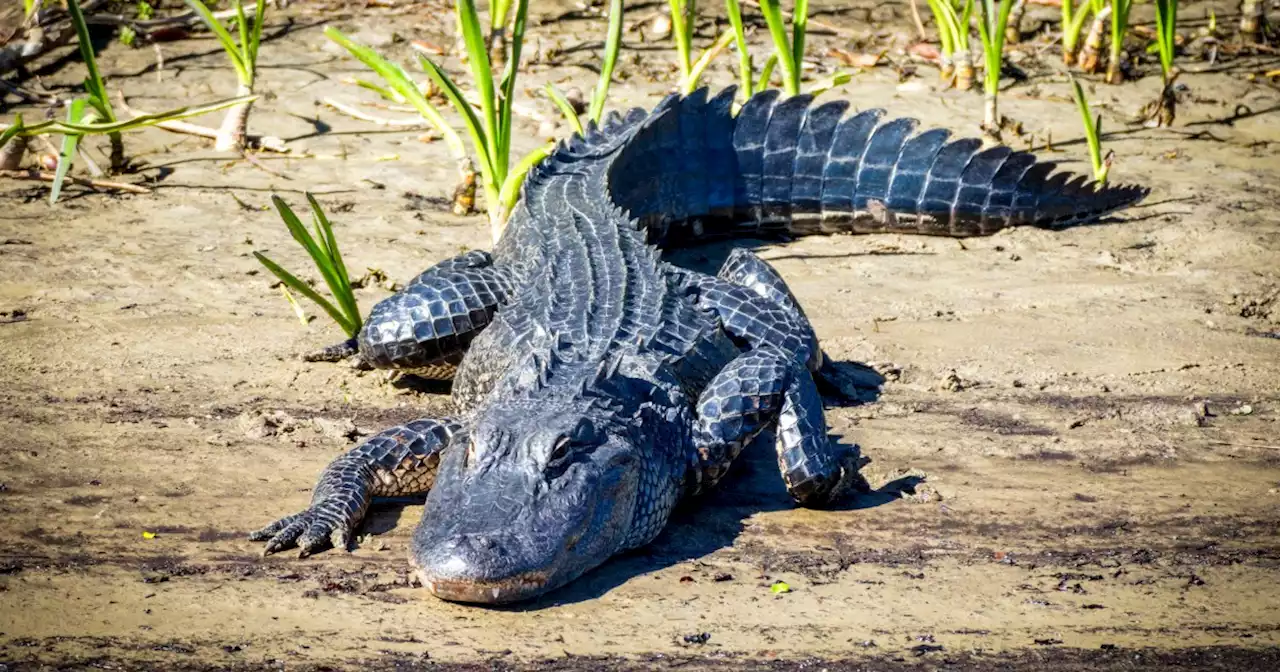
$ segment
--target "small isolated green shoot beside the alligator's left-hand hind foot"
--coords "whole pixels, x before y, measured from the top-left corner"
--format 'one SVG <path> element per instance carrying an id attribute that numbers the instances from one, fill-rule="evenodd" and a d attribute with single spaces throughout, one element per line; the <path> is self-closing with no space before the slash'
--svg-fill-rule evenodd
<path id="1" fill-rule="evenodd" d="M 360 307 L 356 305 L 356 294 L 351 287 L 347 265 L 343 262 L 342 252 L 338 250 L 338 239 L 334 237 L 333 225 L 329 223 L 329 218 L 325 216 L 324 210 L 320 209 L 320 204 L 311 193 L 307 193 L 306 197 L 307 204 L 311 205 L 311 224 L 315 229 L 315 236 L 302 225 L 302 221 L 283 198 L 271 196 L 271 204 L 280 214 L 280 219 L 284 220 L 284 225 L 289 228 L 293 239 L 311 256 L 316 270 L 320 271 L 325 284 L 329 287 L 333 301 L 320 296 L 310 284 L 284 270 L 284 268 L 271 261 L 266 255 L 255 251 L 253 256 L 266 266 L 266 270 L 271 271 L 271 274 L 284 283 L 284 298 L 289 301 L 293 312 L 298 315 L 300 320 L 303 320 L 301 307 L 289 291 L 311 300 L 316 306 L 328 312 L 333 317 L 333 321 L 338 323 L 338 326 L 347 334 L 347 338 L 356 338 L 364 320 L 360 316 Z"/>

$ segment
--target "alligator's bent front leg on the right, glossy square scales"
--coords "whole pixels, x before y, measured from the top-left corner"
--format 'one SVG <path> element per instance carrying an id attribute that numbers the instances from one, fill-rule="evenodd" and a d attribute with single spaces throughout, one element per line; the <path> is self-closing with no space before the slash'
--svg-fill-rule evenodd
<path id="1" fill-rule="evenodd" d="M 858 472 L 856 447 L 835 445 L 827 436 L 813 375 L 773 346 L 735 358 L 699 397 L 694 426 L 701 462 L 698 489 L 714 485 L 742 448 L 771 428 L 782 479 L 800 504 L 820 506 L 850 489 L 869 489 Z"/>

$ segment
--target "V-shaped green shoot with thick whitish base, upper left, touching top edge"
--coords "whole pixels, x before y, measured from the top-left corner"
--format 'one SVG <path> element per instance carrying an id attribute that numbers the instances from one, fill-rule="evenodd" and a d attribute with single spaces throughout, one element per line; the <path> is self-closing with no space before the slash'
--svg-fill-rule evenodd
<path id="1" fill-rule="evenodd" d="M 205 26 L 212 31 L 223 51 L 227 52 L 227 58 L 230 60 L 232 68 L 236 70 L 236 78 L 239 82 L 236 95 L 252 96 L 253 82 L 257 78 L 257 50 L 262 41 L 262 19 L 266 15 L 266 0 L 255 3 L 252 23 L 250 23 L 248 17 L 244 14 L 243 1 L 232 0 L 232 6 L 236 10 L 234 23 L 238 41 L 232 37 L 230 32 L 223 27 L 221 22 L 214 17 L 214 13 L 210 12 L 202 0 L 186 0 L 186 3 L 200 15 Z M 227 111 L 227 116 L 223 118 L 223 123 L 218 128 L 218 134 L 214 137 L 215 150 L 244 152 L 248 137 L 248 113 L 252 105 L 252 101 L 250 101 Z"/>

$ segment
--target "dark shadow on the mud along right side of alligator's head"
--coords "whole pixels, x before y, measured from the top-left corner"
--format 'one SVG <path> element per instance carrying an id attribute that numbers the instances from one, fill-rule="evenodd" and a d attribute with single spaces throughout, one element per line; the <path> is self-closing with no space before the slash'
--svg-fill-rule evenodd
<path id="1" fill-rule="evenodd" d="M 756 444 L 735 462 L 712 493 L 678 507 L 652 544 L 608 562 L 567 586 L 531 602 L 490 607 L 499 611 L 539 611 L 600 598 L 627 581 L 733 547 L 746 521 L 756 513 L 792 509 L 796 504 L 778 475 L 777 457 Z M 896 502 L 922 479 L 908 476 L 846 498 L 831 511 L 855 511 Z"/>

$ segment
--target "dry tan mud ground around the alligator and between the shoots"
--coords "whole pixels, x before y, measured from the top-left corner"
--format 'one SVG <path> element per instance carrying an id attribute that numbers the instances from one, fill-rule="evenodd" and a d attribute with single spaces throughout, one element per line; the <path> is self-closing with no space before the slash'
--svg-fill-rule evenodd
<path id="1" fill-rule="evenodd" d="M 404 56 L 401 36 L 452 42 L 440 8 L 297 3 L 273 20 L 252 128 L 289 140 L 294 156 L 261 159 L 279 174 L 152 131 L 128 138 L 151 196 L 72 188 L 51 207 L 45 186 L 0 182 L 0 669 L 1280 668 L 1280 92 L 1248 79 L 1274 58 L 1189 61 L 1171 131 L 1124 123 L 1158 88 L 1149 65 L 1096 87 L 1114 179 L 1152 188 L 1115 221 L 760 243 L 827 351 L 886 374 L 878 398 L 828 411 L 873 460 L 874 495 L 796 509 L 773 458 L 749 456 L 652 547 L 521 608 L 411 585 L 419 503 L 379 507 L 351 554 L 259 558 L 246 532 L 302 507 L 353 439 L 448 408 L 447 389 L 300 361 L 340 334 L 301 326 L 250 255 L 307 268 L 262 210 L 303 188 L 353 269 L 404 282 L 488 244 L 483 218 L 445 212 L 442 143 L 317 104 L 371 100 L 342 83 L 361 68 L 324 23 Z M 521 150 L 564 133 L 532 92 L 588 91 L 599 42 L 582 38 L 603 35 L 598 15 L 539 12 L 522 102 L 544 119 L 520 122 Z M 849 31 L 814 36 L 815 55 L 910 32 L 902 4 L 815 15 Z M 614 105 L 652 106 L 669 49 L 627 40 Z M 150 49 L 113 45 L 110 86 L 143 109 L 233 91 L 211 40 L 161 49 L 157 74 Z M 1004 111 L 1084 170 L 1056 56 L 1028 54 Z M 979 95 L 890 58 L 916 74 L 879 67 L 828 96 L 977 131 Z M 72 59 L 44 79 L 82 76 Z"/>

